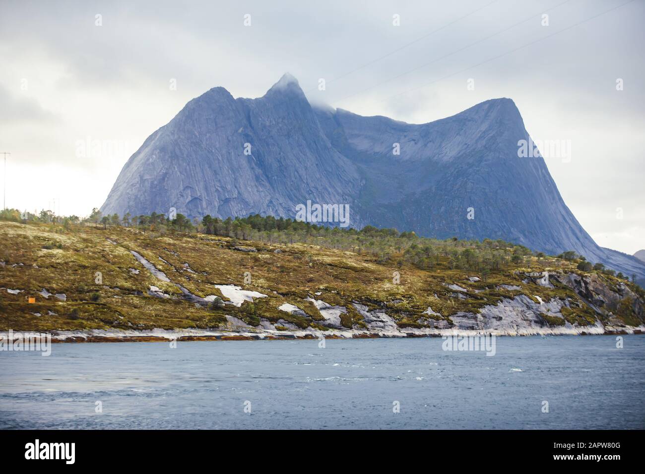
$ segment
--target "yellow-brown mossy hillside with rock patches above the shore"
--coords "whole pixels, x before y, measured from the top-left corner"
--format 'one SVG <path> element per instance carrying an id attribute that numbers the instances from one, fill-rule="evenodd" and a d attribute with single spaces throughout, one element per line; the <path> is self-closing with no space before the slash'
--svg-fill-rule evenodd
<path id="1" fill-rule="evenodd" d="M 315 244 L 317 239 L 322 239 L 321 245 Z M 587 274 L 577 270 L 575 259 L 536 257 L 530 252 L 513 257 L 518 255 L 517 248 L 501 248 L 493 242 L 491 252 L 502 257 L 491 257 L 493 264 L 478 271 L 474 265 L 464 269 L 470 259 L 466 251 L 477 256 L 473 242 L 435 241 L 424 244 L 430 246 L 428 250 L 375 237 L 378 242 L 372 242 L 372 248 L 380 250 L 373 252 L 355 246 L 352 250 L 328 248 L 333 246 L 329 239 L 310 235 L 306 239 L 310 243 L 270 243 L 271 239 L 242 241 L 203 233 L 151 232 L 150 228 L 0 221 L 0 330 L 206 329 L 223 327 L 226 315 L 251 326 L 266 318 L 274 324 L 283 320 L 299 328 L 327 330 L 320 311 L 304 301 L 307 297 L 344 306 L 341 322 L 345 328 L 364 327 L 352 302 L 384 308 L 400 327 L 422 328 L 433 327 L 441 319 L 450 323 L 450 316 L 459 311 L 477 312 L 504 297 L 521 294 L 535 302 L 568 298 L 570 308 L 563 312 L 566 321 L 583 326 L 595 322 L 593 310 L 569 286 L 551 279 L 553 288 L 548 288 L 526 276 L 543 271 Z M 250 246 L 257 252 L 242 252 L 236 246 Z M 170 282 L 157 279 L 131 251 L 152 262 Z M 419 253 L 430 256 L 416 258 Z M 101 272 L 102 282 L 97 282 L 96 272 Z M 245 272 L 250 273 L 248 284 L 244 283 Z M 399 272 L 399 284 L 393 281 L 393 272 Z M 629 282 L 604 273 L 596 276 L 609 288 L 627 285 L 642 298 L 642 290 Z M 177 284 L 199 297 L 217 295 L 223 301 L 226 297 L 213 285 L 235 284 L 268 297 L 240 307 L 196 304 L 184 299 Z M 462 297 L 448 288 L 452 284 L 466 290 L 459 291 Z M 168 297 L 148 294 L 151 286 Z M 7 289 L 21 291 L 13 294 Z M 45 298 L 42 290 L 52 295 Z M 61 301 L 63 295 L 65 301 Z M 30 297 L 35 302 L 29 302 Z M 284 303 L 298 306 L 306 315 L 278 310 Z M 441 316 L 424 314 L 429 306 Z M 613 308 L 613 317 L 625 324 L 642 324 L 638 304 L 619 306 Z"/>

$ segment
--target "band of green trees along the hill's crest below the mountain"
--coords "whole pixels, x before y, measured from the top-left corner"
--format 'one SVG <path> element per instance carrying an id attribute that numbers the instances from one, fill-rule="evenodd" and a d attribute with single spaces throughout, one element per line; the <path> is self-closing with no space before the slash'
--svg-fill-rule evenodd
<path id="1" fill-rule="evenodd" d="M 24 217 L 25 213 L 18 210 L 4 210 L 0 213 L 0 219 L 19 221 Z M 573 251 L 550 257 L 542 252 L 531 252 L 525 246 L 502 239 L 477 241 L 452 237 L 440 240 L 419 237 L 415 232 L 399 232 L 395 228 L 375 226 L 365 226 L 360 230 L 340 228 L 272 215 L 253 214 L 226 219 L 205 215 L 200 220 L 196 217 L 189 219 L 177 213 L 174 219 L 170 219 L 168 215 L 157 212 L 149 215 L 125 213 L 123 217 L 118 214 L 103 215 L 98 208 L 94 208 L 84 219 L 79 219 L 77 216 L 55 216 L 51 211 L 42 211 L 39 215 L 27 213 L 26 217 L 32 221 L 62 224 L 64 228 L 94 224 L 104 229 L 123 226 L 161 234 L 165 232 L 204 233 L 268 244 L 312 244 L 361 255 L 373 255 L 376 261 L 382 264 L 393 262 L 402 266 L 407 262 L 424 270 L 447 267 L 453 270 L 478 272 L 484 280 L 491 272 L 499 272 L 511 266 L 530 267 L 533 257 L 537 257 L 537 263 L 542 266 L 545 266 L 547 261 L 550 266 L 557 265 L 559 259 L 561 262 L 577 263 L 577 268 L 585 272 L 595 270 L 615 275 L 613 270 L 604 268 L 603 264 L 593 265 Z M 622 273 L 615 276 L 624 278 Z"/>

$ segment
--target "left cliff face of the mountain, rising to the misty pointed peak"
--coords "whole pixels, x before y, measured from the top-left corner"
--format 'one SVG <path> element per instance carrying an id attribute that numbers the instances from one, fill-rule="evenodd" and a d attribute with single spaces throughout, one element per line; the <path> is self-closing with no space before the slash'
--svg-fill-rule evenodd
<path id="1" fill-rule="evenodd" d="M 260 99 L 217 87 L 190 101 L 132 155 L 101 211 L 294 217 L 308 199 L 351 205 L 359 185 L 285 75 Z"/>

